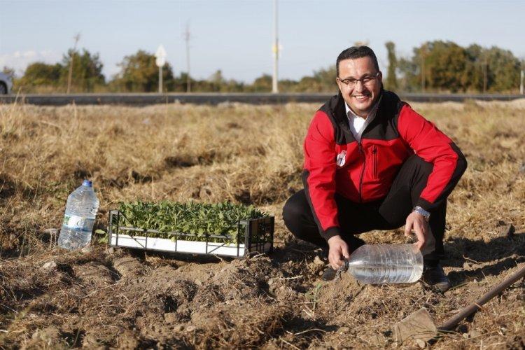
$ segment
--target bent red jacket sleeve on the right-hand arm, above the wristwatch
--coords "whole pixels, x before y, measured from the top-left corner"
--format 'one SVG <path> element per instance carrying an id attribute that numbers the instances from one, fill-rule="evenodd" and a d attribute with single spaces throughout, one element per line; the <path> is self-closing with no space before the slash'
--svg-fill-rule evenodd
<path id="1" fill-rule="evenodd" d="M 447 200 L 465 172 L 465 156 L 447 135 L 407 104 L 400 111 L 398 131 L 416 155 L 434 165 L 426 187 L 414 204 L 431 212 Z"/>

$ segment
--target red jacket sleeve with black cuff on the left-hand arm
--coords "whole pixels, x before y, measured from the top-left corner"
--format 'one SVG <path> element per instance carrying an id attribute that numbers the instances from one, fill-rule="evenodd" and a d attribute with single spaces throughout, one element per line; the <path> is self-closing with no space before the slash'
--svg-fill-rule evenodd
<path id="1" fill-rule="evenodd" d="M 318 111 L 304 139 L 304 193 L 321 237 L 328 240 L 339 235 L 335 204 L 335 138 L 330 119 Z"/>

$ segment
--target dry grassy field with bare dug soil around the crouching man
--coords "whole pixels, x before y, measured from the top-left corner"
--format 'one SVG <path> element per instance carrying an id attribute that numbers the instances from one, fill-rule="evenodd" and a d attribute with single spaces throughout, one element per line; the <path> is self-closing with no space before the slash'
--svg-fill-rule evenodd
<path id="1" fill-rule="evenodd" d="M 525 263 L 525 101 L 412 106 L 468 159 L 449 197 L 444 294 L 422 282 L 321 282 L 325 253 L 286 230 L 317 105 L 0 106 L 0 347 L 416 346 L 395 342 L 393 324 L 426 307 L 440 325 Z M 246 260 L 62 251 L 53 229 L 86 177 L 99 229 L 119 201 L 230 200 L 275 216 L 276 250 Z M 405 242 L 402 230 L 362 238 Z M 524 279 L 433 344 L 523 346 Z"/>

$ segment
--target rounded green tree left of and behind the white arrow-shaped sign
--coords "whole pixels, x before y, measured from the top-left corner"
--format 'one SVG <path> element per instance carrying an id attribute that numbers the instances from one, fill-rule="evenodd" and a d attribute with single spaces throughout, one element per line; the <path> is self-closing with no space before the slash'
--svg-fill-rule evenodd
<path id="1" fill-rule="evenodd" d="M 155 92 L 159 85 L 159 68 L 155 64 L 155 55 L 139 50 L 134 55 L 124 57 L 118 64 L 120 73 L 114 84 L 128 92 Z M 162 67 L 162 81 L 167 91 L 174 90 L 172 66 L 166 63 Z"/>

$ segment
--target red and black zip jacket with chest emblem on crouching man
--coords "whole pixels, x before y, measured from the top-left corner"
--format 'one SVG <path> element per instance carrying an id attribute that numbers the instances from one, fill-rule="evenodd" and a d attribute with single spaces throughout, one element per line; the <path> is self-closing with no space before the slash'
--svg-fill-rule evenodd
<path id="1" fill-rule="evenodd" d="M 414 204 L 427 211 L 447 200 L 465 171 L 465 157 L 454 142 L 393 92 L 382 90 L 360 143 L 348 123 L 339 93 L 316 112 L 304 140 L 304 190 L 325 239 L 340 234 L 335 193 L 358 203 L 381 200 L 414 153 L 434 165 Z"/>

